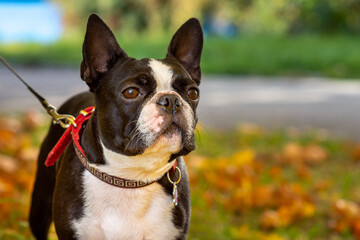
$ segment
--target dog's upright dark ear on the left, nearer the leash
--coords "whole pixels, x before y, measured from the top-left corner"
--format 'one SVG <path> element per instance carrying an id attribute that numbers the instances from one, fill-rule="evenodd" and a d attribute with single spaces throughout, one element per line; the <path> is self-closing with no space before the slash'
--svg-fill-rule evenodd
<path id="1" fill-rule="evenodd" d="M 81 62 L 81 78 L 89 85 L 90 91 L 96 89 L 100 78 L 118 59 L 126 57 L 109 27 L 97 15 L 90 15 Z"/>

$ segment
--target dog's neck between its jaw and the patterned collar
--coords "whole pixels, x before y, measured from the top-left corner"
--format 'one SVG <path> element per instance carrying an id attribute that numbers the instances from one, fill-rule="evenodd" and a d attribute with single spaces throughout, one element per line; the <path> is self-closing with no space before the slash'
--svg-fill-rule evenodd
<path id="1" fill-rule="evenodd" d="M 174 161 L 161 141 L 137 156 L 126 156 L 107 148 L 101 140 L 96 123 L 96 113 L 83 131 L 81 145 L 90 164 L 107 174 L 129 180 L 150 182 L 160 179 L 170 170 Z"/>

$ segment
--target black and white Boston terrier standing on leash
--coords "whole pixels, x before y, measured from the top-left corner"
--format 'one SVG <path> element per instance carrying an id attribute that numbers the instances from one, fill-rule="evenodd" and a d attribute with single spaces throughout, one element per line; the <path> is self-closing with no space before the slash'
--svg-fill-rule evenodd
<path id="1" fill-rule="evenodd" d="M 82 153 L 70 143 L 55 166 L 44 165 L 64 134 L 58 125 L 41 146 L 29 216 L 36 239 L 47 239 L 52 221 L 59 239 L 186 238 L 190 191 L 182 156 L 195 149 L 202 47 L 201 25 L 191 18 L 164 59 L 137 60 L 97 15 L 89 17 L 81 62 L 89 91 L 59 113 L 95 108 L 74 128 Z"/>

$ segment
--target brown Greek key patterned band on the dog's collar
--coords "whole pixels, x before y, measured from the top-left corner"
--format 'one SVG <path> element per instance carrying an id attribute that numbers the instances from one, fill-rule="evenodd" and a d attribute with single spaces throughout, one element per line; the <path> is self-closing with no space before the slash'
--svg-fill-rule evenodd
<path id="1" fill-rule="evenodd" d="M 90 164 L 88 163 L 87 159 L 84 157 L 84 155 L 80 152 L 80 150 L 77 148 L 77 146 L 75 144 L 74 148 L 75 148 L 75 152 L 76 155 L 78 156 L 78 158 L 80 159 L 80 162 L 82 163 L 82 165 L 95 177 L 97 177 L 98 179 L 100 179 L 101 181 L 110 184 L 112 186 L 115 187 L 120 187 L 120 188 L 141 188 L 141 187 L 145 187 L 148 186 L 154 182 L 141 182 L 141 181 L 134 181 L 134 180 L 128 180 L 128 179 L 124 179 L 124 178 L 118 178 L 112 175 L 109 175 L 107 173 L 101 172 L 99 169 L 90 166 Z"/>

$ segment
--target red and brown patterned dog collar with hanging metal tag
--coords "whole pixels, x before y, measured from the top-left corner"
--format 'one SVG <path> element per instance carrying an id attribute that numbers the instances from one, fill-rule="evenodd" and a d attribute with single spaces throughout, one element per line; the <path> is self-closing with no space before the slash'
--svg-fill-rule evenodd
<path id="1" fill-rule="evenodd" d="M 124 178 L 119 178 L 119 177 L 104 173 L 104 172 L 100 171 L 99 169 L 97 169 L 96 167 L 93 167 L 90 165 L 89 161 L 86 158 L 84 150 L 82 149 L 82 147 L 80 145 L 80 130 L 82 129 L 83 124 L 91 117 L 91 114 L 93 113 L 94 110 L 95 110 L 95 107 L 88 107 L 88 108 L 80 111 L 79 116 L 75 119 L 75 124 L 70 125 L 66 129 L 66 131 L 61 136 L 61 138 L 59 139 L 59 141 L 57 142 L 55 147 L 51 150 L 51 152 L 47 156 L 47 159 L 45 161 L 45 166 L 50 167 L 50 166 L 54 165 L 55 162 L 59 159 L 59 157 L 63 153 L 63 151 L 65 150 L 65 148 L 69 145 L 69 143 L 72 140 L 76 155 L 78 156 L 82 165 L 92 175 L 94 175 L 95 177 L 97 177 L 98 179 L 100 179 L 101 181 L 103 181 L 105 183 L 108 183 L 112 186 L 120 187 L 120 188 L 141 188 L 141 187 L 148 186 L 154 182 L 157 182 L 158 180 L 151 181 L 151 182 L 142 182 L 142 181 L 134 181 L 134 180 L 124 179 Z M 175 169 L 177 169 L 179 171 L 179 174 L 181 174 L 180 169 L 177 167 L 176 160 L 175 160 L 172 168 L 167 172 L 168 179 L 170 179 L 169 173 L 174 173 Z M 178 181 L 180 181 L 180 178 L 181 177 L 179 177 Z M 172 181 L 170 181 L 170 182 L 174 185 L 174 191 L 175 191 L 177 182 L 176 183 L 173 183 Z M 176 194 L 173 192 L 173 196 L 174 195 L 177 195 L 177 192 L 176 192 Z M 177 200 L 177 196 L 176 196 L 176 199 L 175 198 L 173 199 L 174 204 L 177 205 L 177 203 L 175 203 L 175 200 Z"/>

